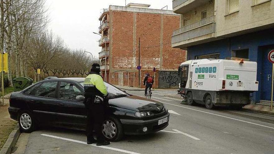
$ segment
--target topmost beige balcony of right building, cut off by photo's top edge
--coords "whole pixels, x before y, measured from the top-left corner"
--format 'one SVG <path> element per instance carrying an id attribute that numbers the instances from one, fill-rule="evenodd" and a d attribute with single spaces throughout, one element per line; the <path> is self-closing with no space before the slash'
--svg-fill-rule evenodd
<path id="1" fill-rule="evenodd" d="M 208 0 L 173 0 L 172 1 L 173 12 L 177 14 L 184 14 L 207 2 L 209 1 Z"/>

